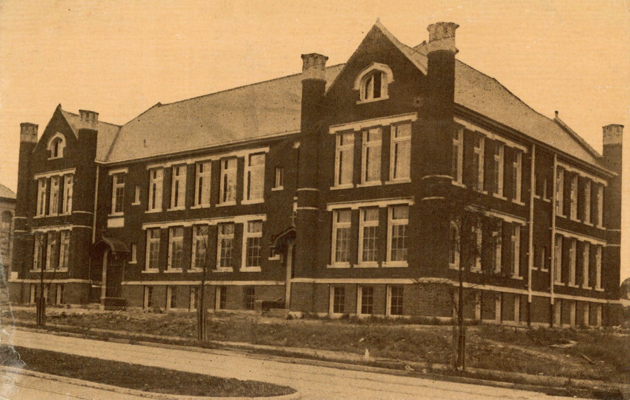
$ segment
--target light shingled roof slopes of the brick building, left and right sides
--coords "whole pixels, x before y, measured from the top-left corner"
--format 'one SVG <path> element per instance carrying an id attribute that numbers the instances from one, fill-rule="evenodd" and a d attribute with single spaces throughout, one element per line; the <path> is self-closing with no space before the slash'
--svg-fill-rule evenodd
<path id="1" fill-rule="evenodd" d="M 409 47 L 379 21 L 374 28 L 421 73 L 427 73 L 426 42 Z M 344 66 L 326 69 L 328 86 Z M 300 128 L 301 80 L 301 74 L 295 74 L 166 105 L 157 103 L 125 123 L 113 142 L 99 144 L 99 149 L 111 143 L 104 161 L 117 162 L 295 132 Z M 538 113 L 496 79 L 459 60 L 455 62 L 455 103 L 570 156 L 602 166 L 599 154 L 566 124 Z M 112 133 L 103 135 L 103 140 L 115 134 L 116 125 L 110 126 Z"/>

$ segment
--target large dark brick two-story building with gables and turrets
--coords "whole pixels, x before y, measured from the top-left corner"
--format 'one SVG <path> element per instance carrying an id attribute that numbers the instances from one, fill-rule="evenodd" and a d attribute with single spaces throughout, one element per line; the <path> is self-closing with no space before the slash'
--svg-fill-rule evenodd
<path id="1" fill-rule="evenodd" d="M 456 59 L 377 22 L 345 64 L 21 126 L 16 302 L 617 322 L 622 126 L 598 154 Z M 203 271 L 205 270 L 205 273 Z"/>

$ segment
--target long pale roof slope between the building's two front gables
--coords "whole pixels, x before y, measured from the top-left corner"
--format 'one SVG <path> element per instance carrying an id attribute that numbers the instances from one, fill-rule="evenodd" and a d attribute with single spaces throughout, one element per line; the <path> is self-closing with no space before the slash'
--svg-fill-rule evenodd
<path id="1" fill-rule="evenodd" d="M 331 83 L 343 64 L 326 69 Z M 106 161 L 217 146 L 300 129 L 302 74 L 153 106 L 120 129 Z"/>

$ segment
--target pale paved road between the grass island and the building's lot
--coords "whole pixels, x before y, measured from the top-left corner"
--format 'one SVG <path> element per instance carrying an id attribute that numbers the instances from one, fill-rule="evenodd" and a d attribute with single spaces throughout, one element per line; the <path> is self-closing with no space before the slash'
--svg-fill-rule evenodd
<path id="1" fill-rule="evenodd" d="M 553 399 L 537 392 L 358 372 L 246 357 L 232 351 L 197 353 L 15 331 L 17 346 L 118 360 L 220 377 L 288 385 L 305 399 Z M 115 398 L 117 396 L 112 396 Z M 563 399 L 563 397 L 555 397 Z"/>

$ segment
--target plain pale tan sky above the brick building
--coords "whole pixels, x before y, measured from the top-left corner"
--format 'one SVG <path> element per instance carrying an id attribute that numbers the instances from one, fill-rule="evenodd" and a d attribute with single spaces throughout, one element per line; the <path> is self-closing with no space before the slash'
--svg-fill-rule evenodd
<path id="1" fill-rule="evenodd" d="M 345 62 L 377 18 L 401 42 L 458 23 L 457 57 L 559 117 L 597 151 L 626 125 L 630 210 L 630 4 L 598 1 L 0 0 L 0 183 L 16 190 L 20 122 L 55 107 L 125 123 L 169 103 L 301 71 L 300 55 Z M 630 215 L 622 260 L 630 260 Z M 630 277 L 630 262 L 622 278 Z"/>

